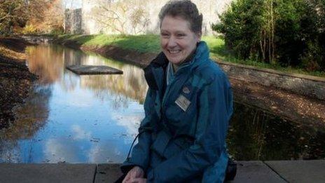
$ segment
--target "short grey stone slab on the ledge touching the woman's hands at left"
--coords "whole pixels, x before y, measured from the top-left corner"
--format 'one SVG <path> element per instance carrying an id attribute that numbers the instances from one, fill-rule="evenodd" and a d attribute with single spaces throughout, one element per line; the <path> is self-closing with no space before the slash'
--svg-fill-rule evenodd
<path id="1" fill-rule="evenodd" d="M 95 176 L 95 183 L 115 182 L 122 172 L 120 164 L 99 164 Z"/>

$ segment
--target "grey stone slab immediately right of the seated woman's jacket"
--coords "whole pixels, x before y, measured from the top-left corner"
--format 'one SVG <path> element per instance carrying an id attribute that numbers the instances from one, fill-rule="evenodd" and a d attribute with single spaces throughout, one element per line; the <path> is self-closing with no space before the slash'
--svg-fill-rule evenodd
<path id="1" fill-rule="evenodd" d="M 262 161 L 239 161 L 237 162 L 237 174 L 230 182 L 286 182 L 273 172 Z"/>

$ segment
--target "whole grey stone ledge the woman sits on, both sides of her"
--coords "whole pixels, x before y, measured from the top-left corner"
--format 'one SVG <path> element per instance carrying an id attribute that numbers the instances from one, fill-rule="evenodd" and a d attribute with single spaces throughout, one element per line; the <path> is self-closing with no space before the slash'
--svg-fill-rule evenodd
<path id="1" fill-rule="evenodd" d="M 0 182 L 114 182 L 120 164 L 0 163 Z M 238 161 L 230 182 L 324 182 L 325 160 Z"/>

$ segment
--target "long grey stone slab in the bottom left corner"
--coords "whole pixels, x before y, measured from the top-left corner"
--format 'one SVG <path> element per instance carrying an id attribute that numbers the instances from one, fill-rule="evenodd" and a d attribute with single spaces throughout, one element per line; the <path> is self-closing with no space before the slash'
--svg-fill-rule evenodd
<path id="1" fill-rule="evenodd" d="M 95 164 L 21 164 L 0 163 L 1 183 L 92 183 Z"/>

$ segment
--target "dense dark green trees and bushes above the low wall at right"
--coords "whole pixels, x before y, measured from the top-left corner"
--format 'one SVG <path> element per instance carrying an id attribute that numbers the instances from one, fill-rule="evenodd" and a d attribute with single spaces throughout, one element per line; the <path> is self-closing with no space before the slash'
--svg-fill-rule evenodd
<path id="1" fill-rule="evenodd" d="M 325 71 L 325 0 L 237 0 L 213 25 L 236 57 Z"/>

